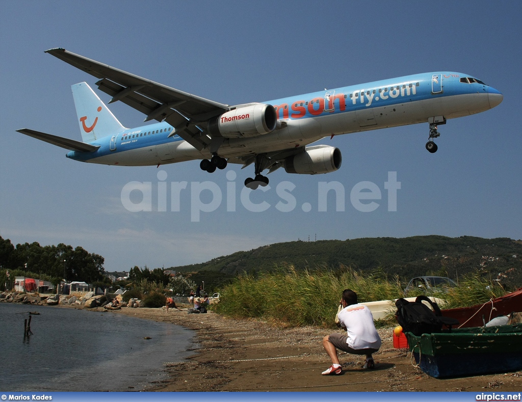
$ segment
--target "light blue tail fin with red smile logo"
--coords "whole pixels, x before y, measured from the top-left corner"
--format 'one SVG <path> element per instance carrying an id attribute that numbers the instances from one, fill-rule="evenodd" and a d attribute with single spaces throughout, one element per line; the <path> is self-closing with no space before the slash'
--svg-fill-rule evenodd
<path id="1" fill-rule="evenodd" d="M 120 133 L 125 129 L 86 82 L 80 82 L 71 88 L 84 143 Z"/>

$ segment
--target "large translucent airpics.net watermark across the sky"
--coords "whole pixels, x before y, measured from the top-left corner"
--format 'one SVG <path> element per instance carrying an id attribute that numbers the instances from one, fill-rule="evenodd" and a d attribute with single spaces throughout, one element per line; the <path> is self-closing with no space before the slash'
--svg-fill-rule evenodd
<path id="1" fill-rule="evenodd" d="M 170 185 L 170 211 L 180 212 L 182 210 L 182 193 L 190 192 L 190 201 L 187 202 L 191 211 L 191 222 L 199 222 L 201 212 L 216 211 L 222 203 L 226 203 L 227 212 L 235 212 L 238 208 L 237 198 L 241 206 L 250 212 L 264 212 L 270 208 L 275 208 L 280 212 L 291 212 L 298 208 L 298 200 L 294 194 L 296 185 L 290 181 L 279 182 L 275 188 L 267 185 L 259 186 L 257 190 L 251 190 L 244 187 L 242 183 L 236 183 L 236 173 L 233 170 L 227 172 L 226 189 L 222 188 L 215 182 L 167 182 L 167 172 L 160 170 L 157 174 L 157 203 L 152 202 L 153 184 L 152 182 L 132 181 L 125 184 L 121 192 L 121 201 L 123 207 L 130 212 L 167 212 L 168 202 L 167 194 Z M 237 187 L 241 186 L 238 191 Z M 156 189 L 154 189 L 156 190 Z M 397 172 L 388 172 L 388 180 L 384 182 L 384 190 L 387 192 L 388 211 L 397 211 L 397 191 L 400 190 L 400 182 L 397 181 Z M 252 192 L 274 192 L 279 197 L 277 203 L 268 203 L 266 200 L 254 202 L 251 199 Z M 294 192 L 294 193 L 292 193 Z M 133 193 L 133 195 L 131 195 Z M 203 197 L 202 197 L 203 194 Z M 338 181 L 320 181 L 317 183 L 317 211 L 327 212 L 328 197 L 334 197 L 335 211 L 344 212 L 346 206 L 346 189 L 345 185 Z M 183 198 L 186 198 L 183 197 Z M 203 198 L 203 199 L 202 199 Z M 259 198 L 256 196 L 255 198 Z M 139 201 L 137 201 L 139 199 Z M 353 208 L 360 212 L 375 211 L 381 204 L 377 203 L 382 200 L 383 195 L 381 188 L 373 182 L 362 181 L 355 184 L 350 190 L 350 203 Z M 188 205 L 189 204 L 189 205 Z M 312 211 L 311 203 L 305 202 L 301 204 L 303 212 Z"/>

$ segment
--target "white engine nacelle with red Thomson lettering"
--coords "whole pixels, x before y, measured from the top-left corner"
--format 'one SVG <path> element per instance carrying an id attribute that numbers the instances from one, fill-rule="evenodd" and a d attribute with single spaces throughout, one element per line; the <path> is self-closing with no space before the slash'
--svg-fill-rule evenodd
<path id="1" fill-rule="evenodd" d="M 208 121 L 212 136 L 225 138 L 255 137 L 276 129 L 277 114 L 272 105 L 251 103 Z"/>

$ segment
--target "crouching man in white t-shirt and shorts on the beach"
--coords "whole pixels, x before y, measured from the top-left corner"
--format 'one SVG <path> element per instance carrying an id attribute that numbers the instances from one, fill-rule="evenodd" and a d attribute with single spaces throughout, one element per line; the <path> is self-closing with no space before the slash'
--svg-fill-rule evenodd
<path id="1" fill-rule="evenodd" d="M 339 312 L 341 327 L 347 334 L 334 333 L 323 338 L 323 347 L 331 359 L 331 366 L 323 371 L 323 375 L 342 374 L 341 363 L 337 357 L 337 349 L 353 354 L 365 354 L 365 369 L 375 368 L 372 353 L 381 347 L 381 338 L 373 323 L 372 312 L 365 305 L 357 303 L 357 294 L 350 289 L 342 292 L 340 301 L 342 310 Z"/>

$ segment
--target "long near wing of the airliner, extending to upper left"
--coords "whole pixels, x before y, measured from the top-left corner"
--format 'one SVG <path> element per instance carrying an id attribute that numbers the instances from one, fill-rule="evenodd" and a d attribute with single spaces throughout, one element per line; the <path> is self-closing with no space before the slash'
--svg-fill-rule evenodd
<path id="1" fill-rule="evenodd" d="M 211 138 L 205 133 L 208 120 L 230 110 L 229 105 L 158 84 L 62 48 L 45 53 L 101 78 L 96 85 L 112 96 L 109 103 L 122 101 L 145 113 L 145 121 L 167 121 L 177 135 L 198 150 L 210 145 Z"/>

